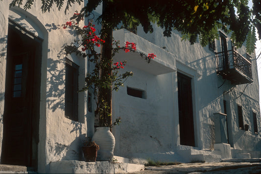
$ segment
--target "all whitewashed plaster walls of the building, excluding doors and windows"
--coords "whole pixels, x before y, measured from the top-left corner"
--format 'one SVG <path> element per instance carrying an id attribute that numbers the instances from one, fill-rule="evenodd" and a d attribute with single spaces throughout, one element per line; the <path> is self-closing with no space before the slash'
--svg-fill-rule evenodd
<path id="1" fill-rule="evenodd" d="M 85 93 L 79 94 L 79 122 L 71 121 L 64 115 L 65 55 L 62 48 L 65 43 L 70 43 L 75 38 L 75 33 L 62 29 L 60 25 L 69 20 L 74 10 L 79 10 L 81 7 L 73 5 L 66 15 L 64 15 L 64 9 L 58 11 L 56 8 L 52 9 L 50 13 L 43 14 L 39 2 L 35 2 L 32 9 L 27 12 L 18 7 L 9 10 L 8 2 L 10 0 L 0 1 L 0 31 L 3 31 L 0 32 L 0 141 L 3 126 L 7 19 L 9 16 L 18 24 L 44 39 L 38 172 L 45 173 L 49 172 L 48 164 L 50 162 L 81 160 L 81 145 L 84 134 L 87 133 L 87 124 L 88 135 L 92 136 L 94 133 L 94 113 L 88 113 L 88 123 L 86 123 Z M 97 8 L 94 12 L 95 17 L 99 15 L 100 11 L 101 8 Z M 100 30 L 100 26 L 97 26 L 97 30 Z M 126 31 L 120 30 L 116 33 L 121 37 L 124 32 Z M 143 163 L 148 158 L 183 161 L 183 158 L 188 156 L 182 156 L 181 152 L 177 153 L 178 151 L 188 149 L 214 150 L 213 117 L 214 113 L 224 112 L 223 99 L 225 99 L 228 110 L 229 141 L 234 147 L 233 154 L 248 152 L 251 153 L 251 157 L 261 157 L 261 116 L 255 55 L 252 55 L 254 82 L 247 87 L 246 84 L 242 84 L 233 88 L 234 85 L 228 80 L 224 82 L 221 76 L 216 75 L 215 55 L 208 47 L 202 48 L 199 43 L 190 45 L 188 41 L 181 41 L 177 31 L 173 31 L 170 38 L 163 37 L 162 33 L 163 30 L 155 25 L 152 34 L 145 34 L 141 27 L 138 28 L 138 35 L 146 40 L 137 40 L 139 37 L 133 34 L 125 35 L 126 41 L 135 42 L 137 40 L 139 44 L 137 48 L 145 53 L 148 53 L 147 51 L 155 53 L 151 49 L 157 48 L 159 51 L 156 54 L 158 55 L 157 63 L 161 66 L 156 67 L 157 70 L 150 65 L 142 69 L 142 66 L 146 66 L 146 64 L 140 64 L 141 60 L 139 63 L 128 64 L 127 62 L 124 70 L 121 70 L 132 71 L 134 75 L 124 83 L 118 92 L 113 92 L 113 117 L 114 120 L 121 117 L 121 124 L 113 128 L 116 139 L 115 155 L 129 157 L 132 162 L 137 163 Z M 117 35 L 115 37 L 117 38 Z M 121 44 L 124 45 L 124 43 Z M 216 40 L 216 49 L 220 51 L 220 41 L 218 40 Z M 244 47 L 237 51 L 245 56 Z M 131 56 L 137 55 L 119 54 L 117 60 L 124 61 L 125 58 L 128 58 L 128 61 L 132 61 Z M 168 60 L 165 56 L 168 56 Z M 68 58 L 80 66 L 80 88 L 87 72 L 87 63 L 84 59 L 75 56 L 68 56 Z M 151 64 L 155 62 L 152 60 Z M 158 75 L 155 73 L 156 71 L 166 74 Z M 180 145 L 177 72 L 192 78 L 196 147 Z M 223 82 L 224 84 L 221 85 Z M 143 90 L 145 99 L 127 95 L 127 87 Z M 237 104 L 243 107 L 244 124 L 249 124 L 248 131 L 238 128 Z M 92 105 L 94 107 L 94 103 Z M 252 110 L 257 113 L 258 135 L 253 132 Z"/>

